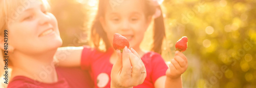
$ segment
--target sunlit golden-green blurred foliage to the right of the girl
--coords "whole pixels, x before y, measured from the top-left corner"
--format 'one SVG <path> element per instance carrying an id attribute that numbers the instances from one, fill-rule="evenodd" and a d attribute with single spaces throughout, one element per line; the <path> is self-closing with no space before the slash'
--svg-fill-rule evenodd
<path id="1" fill-rule="evenodd" d="M 255 4 L 252 0 L 164 1 L 167 39 L 175 44 L 188 37 L 184 87 L 256 87 Z"/>

